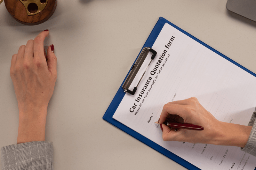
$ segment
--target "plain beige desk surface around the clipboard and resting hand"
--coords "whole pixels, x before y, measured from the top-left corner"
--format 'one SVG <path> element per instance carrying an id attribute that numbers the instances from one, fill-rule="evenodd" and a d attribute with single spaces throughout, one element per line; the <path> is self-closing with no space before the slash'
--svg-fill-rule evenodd
<path id="1" fill-rule="evenodd" d="M 45 29 L 58 78 L 48 106 L 54 169 L 186 169 L 102 120 L 159 17 L 256 72 L 256 23 L 232 14 L 227 0 L 59 0 L 37 26 L 0 6 L 0 146 L 15 144 L 18 106 L 12 55 Z M 1 163 L 0 163 L 1 164 Z M 1 166 L 0 166 L 1 167 Z"/>

